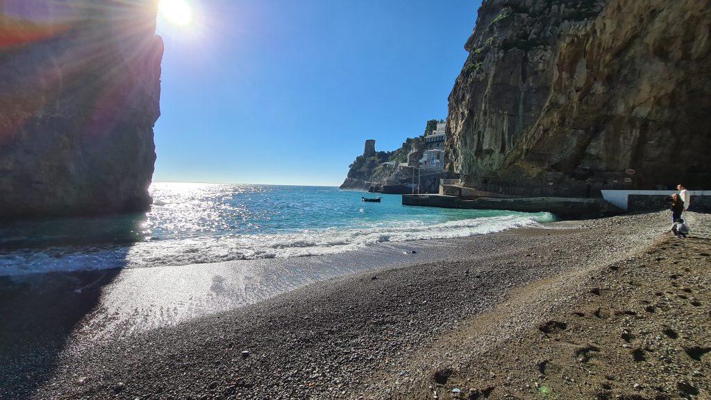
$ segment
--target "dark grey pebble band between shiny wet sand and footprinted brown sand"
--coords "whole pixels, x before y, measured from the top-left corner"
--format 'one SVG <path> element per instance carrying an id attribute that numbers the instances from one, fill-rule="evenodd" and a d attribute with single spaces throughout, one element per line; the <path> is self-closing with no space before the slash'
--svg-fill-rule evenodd
<path id="1" fill-rule="evenodd" d="M 80 319 L 60 332 L 64 340 L 54 355 L 39 359 L 41 365 L 15 359 L 6 372 L 22 376 L 32 370 L 35 379 L 5 382 L 10 393 L 37 399 L 101 398 L 116 390 L 130 399 L 191 393 L 357 398 L 368 393 L 360 385 L 388 362 L 405 360 L 437 335 L 487 315 L 517 288 L 599 264 L 610 252 L 648 246 L 665 220 L 655 213 L 558 224 L 565 229 L 510 229 L 461 239 L 459 252 L 442 258 L 447 261 L 359 271 L 105 342 L 77 335 L 85 323 Z M 610 232 L 629 224 L 634 229 L 627 234 Z M 242 358 L 242 351 L 250 356 Z"/>

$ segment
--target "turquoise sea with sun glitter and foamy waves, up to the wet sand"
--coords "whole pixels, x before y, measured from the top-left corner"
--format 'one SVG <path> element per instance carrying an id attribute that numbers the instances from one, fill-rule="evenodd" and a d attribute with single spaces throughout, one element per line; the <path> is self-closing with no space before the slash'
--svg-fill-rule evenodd
<path id="1" fill-rule="evenodd" d="M 546 212 L 402 205 L 321 186 L 153 183 L 148 212 L 0 224 L 0 276 L 338 254 L 534 227 Z"/>

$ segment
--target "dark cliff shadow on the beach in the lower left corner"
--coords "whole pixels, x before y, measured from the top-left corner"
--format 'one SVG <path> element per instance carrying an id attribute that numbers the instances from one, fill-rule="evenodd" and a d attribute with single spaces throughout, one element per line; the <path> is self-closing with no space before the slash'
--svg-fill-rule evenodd
<path id="1" fill-rule="evenodd" d="M 99 303 L 102 287 L 119 272 L 0 279 L 0 397 L 27 398 L 51 376 L 73 331 Z"/>

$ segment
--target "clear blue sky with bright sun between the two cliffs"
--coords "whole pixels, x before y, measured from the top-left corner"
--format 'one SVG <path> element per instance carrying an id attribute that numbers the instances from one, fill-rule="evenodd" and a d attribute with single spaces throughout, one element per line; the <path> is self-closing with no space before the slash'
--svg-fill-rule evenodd
<path id="1" fill-rule="evenodd" d="M 164 37 L 154 181 L 340 185 L 365 139 L 447 117 L 477 0 L 187 0 Z"/>

